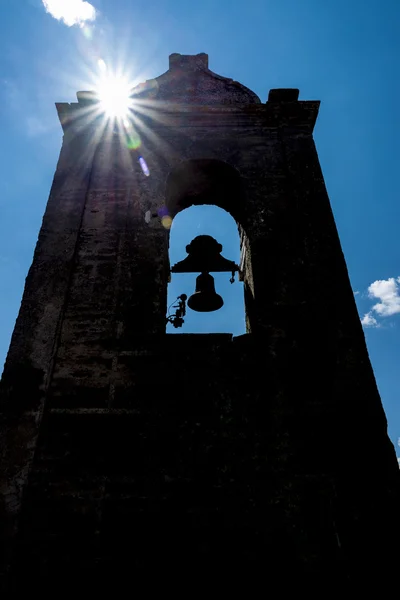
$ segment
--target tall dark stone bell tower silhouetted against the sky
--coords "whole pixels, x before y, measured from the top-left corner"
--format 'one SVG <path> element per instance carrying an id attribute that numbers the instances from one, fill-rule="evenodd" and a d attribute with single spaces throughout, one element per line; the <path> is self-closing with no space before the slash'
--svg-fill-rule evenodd
<path id="1" fill-rule="evenodd" d="M 93 94 L 56 105 L 64 140 L 2 380 L 7 597 L 396 573 L 398 465 L 319 102 L 298 95 L 263 103 L 207 55 L 172 54 L 133 91 L 129 126 L 105 126 Z M 193 204 L 238 224 L 242 336 L 166 334 L 160 215 Z"/>

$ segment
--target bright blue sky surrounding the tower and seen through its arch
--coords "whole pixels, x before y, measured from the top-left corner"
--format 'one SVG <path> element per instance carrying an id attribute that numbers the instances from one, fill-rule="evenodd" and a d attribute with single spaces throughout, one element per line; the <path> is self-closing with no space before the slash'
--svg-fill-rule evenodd
<path id="1" fill-rule="evenodd" d="M 54 103 L 93 89 L 99 59 L 140 82 L 163 73 L 173 52 L 207 52 L 213 71 L 262 101 L 274 87 L 322 101 L 315 140 L 400 456 L 398 0 L 0 0 L 0 7 L 0 363 L 61 145 Z M 199 233 L 239 260 L 229 215 L 198 207 L 174 222 L 172 263 Z M 224 309 L 188 315 L 185 331 L 243 331 L 241 284 L 228 279 L 217 281 Z M 175 276 L 171 300 L 193 287 L 194 277 Z"/>

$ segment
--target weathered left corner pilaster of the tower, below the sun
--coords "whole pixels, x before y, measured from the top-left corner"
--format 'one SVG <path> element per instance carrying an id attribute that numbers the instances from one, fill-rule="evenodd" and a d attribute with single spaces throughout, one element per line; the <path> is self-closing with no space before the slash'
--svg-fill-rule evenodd
<path id="1" fill-rule="evenodd" d="M 95 139 L 65 134 L 0 387 L 0 576 L 13 550 L 84 210 Z"/>

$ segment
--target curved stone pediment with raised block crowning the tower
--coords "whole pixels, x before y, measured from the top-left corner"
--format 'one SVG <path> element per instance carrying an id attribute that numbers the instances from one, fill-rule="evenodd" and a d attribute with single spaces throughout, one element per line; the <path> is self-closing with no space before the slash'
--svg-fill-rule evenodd
<path id="1" fill-rule="evenodd" d="M 210 71 L 207 54 L 171 54 L 168 71 L 138 85 L 133 95 L 176 104 L 260 104 L 249 88 Z"/>

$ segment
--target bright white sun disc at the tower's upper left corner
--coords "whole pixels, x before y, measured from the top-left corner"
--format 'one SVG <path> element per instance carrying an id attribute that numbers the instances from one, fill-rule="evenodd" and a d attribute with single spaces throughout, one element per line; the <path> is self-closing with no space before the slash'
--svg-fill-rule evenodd
<path id="1" fill-rule="evenodd" d="M 101 109 L 109 118 L 123 119 L 132 105 L 131 86 L 124 77 L 104 75 L 97 85 Z"/>

